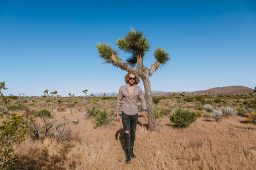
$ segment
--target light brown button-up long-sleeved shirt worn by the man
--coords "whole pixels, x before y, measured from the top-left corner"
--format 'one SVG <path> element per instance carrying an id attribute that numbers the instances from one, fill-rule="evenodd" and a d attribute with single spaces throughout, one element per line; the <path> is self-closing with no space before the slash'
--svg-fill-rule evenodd
<path id="1" fill-rule="evenodd" d="M 128 84 L 120 87 L 118 96 L 116 99 L 116 115 L 119 115 L 120 106 L 123 101 L 122 111 L 126 115 L 136 115 L 138 113 L 138 97 L 140 99 L 143 110 L 146 110 L 146 101 L 143 96 L 143 92 L 138 85 L 134 85 L 132 99 L 129 96 Z"/>

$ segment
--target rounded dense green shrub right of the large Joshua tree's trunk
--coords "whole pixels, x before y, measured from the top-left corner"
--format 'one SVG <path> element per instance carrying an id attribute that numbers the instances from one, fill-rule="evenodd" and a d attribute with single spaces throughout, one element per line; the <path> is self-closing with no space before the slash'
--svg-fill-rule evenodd
<path id="1" fill-rule="evenodd" d="M 195 112 L 179 108 L 175 110 L 175 113 L 170 117 L 170 122 L 172 122 L 175 127 L 188 127 L 188 125 L 196 121 L 196 118 Z"/>

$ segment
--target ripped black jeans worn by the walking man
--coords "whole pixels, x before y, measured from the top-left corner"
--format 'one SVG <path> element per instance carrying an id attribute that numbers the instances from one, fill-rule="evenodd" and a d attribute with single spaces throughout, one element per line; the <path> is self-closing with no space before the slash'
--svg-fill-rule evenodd
<path id="1" fill-rule="evenodd" d="M 122 111 L 122 122 L 124 126 L 125 148 L 133 148 L 135 141 L 135 131 L 138 122 L 138 113 L 136 115 L 129 116 Z M 129 131 L 129 134 L 125 133 L 125 131 Z"/>

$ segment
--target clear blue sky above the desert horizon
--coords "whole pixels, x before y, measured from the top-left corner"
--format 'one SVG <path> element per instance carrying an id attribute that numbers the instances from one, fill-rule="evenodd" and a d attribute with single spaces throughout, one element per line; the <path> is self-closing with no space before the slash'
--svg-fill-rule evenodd
<path id="1" fill-rule="evenodd" d="M 150 77 L 152 90 L 256 86 L 256 1 L 3 1 L 0 81 L 4 94 L 61 96 L 118 92 L 125 71 L 103 64 L 96 43 L 130 27 L 150 41 L 144 64 L 164 47 L 171 60 Z M 123 60 L 127 55 L 118 50 Z M 143 83 L 139 84 L 143 88 Z"/>

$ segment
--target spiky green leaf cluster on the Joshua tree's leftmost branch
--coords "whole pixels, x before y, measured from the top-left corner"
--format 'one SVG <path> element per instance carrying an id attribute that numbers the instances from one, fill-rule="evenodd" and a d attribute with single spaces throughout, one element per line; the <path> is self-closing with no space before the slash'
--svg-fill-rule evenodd
<path id="1" fill-rule="evenodd" d="M 113 55 L 113 54 L 116 55 L 117 54 L 116 50 L 113 50 L 113 48 L 108 44 L 98 43 L 97 48 L 98 48 L 98 52 L 99 52 L 100 57 L 102 59 L 104 59 L 106 62 L 109 61 L 109 58 L 111 57 L 111 55 Z"/>

